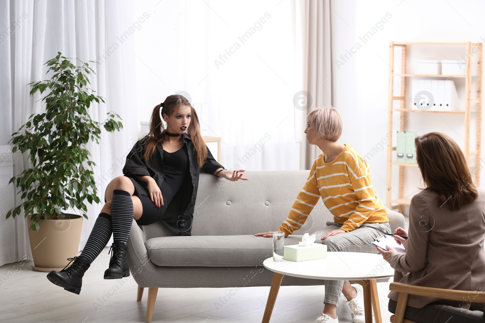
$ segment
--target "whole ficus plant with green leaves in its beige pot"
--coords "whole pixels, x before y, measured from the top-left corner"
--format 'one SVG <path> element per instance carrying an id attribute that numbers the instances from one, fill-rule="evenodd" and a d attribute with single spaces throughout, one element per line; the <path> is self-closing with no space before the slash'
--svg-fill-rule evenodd
<path id="1" fill-rule="evenodd" d="M 82 217 L 87 218 L 86 201 L 99 203 L 93 176 L 95 162 L 89 160 L 86 145 L 99 143 L 100 126 L 113 132 L 123 125 L 120 116 L 108 112 L 102 123 L 93 121 L 88 108 L 104 99 L 93 94 L 88 85 L 95 71 L 89 62 L 74 65 L 58 52 L 45 63 L 48 80 L 32 82 L 30 94 L 46 95 L 46 111 L 32 114 L 27 123 L 12 134 L 12 152 L 28 154 L 32 167 L 10 179 L 25 199 L 10 209 L 6 217 L 19 215 L 23 208 L 29 221 L 29 238 L 35 270 L 62 269 L 67 258 L 77 256 Z M 95 62 L 93 62 L 95 63 Z M 65 213 L 71 208 L 81 215 Z"/>

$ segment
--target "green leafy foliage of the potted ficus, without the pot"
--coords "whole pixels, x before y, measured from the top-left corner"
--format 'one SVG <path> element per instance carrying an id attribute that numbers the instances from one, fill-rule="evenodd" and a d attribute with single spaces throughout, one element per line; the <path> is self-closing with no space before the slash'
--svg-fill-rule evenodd
<path id="1" fill-rule="evenodd" d="M 87 62 L 71 61 L 58 52 L 45 63 L 50 79 L 29 83 L 31 95 L 40 92 L 45 112 L 33 113 L 8 142 L 13 144 L 13 153 L 26 154 L 32 167 L 10 179 L 24 201 L 6 217 L 15 217 L 23 209 L 23 215 L 32 218 L 32 230 L 39 229 L 38 219 L 62 214 L 68 205 L 87 212 L 83 200 L 100 202 L 92 176 L 96 164 L 86 144 L 90 140 L 99 144 L 101 124 L 109 131 L 122 127 L 121 118 L 113 112 L 105 123 L 91 119 L 91 103 L 105 102 L 88 87 L 95 70 Z"/>

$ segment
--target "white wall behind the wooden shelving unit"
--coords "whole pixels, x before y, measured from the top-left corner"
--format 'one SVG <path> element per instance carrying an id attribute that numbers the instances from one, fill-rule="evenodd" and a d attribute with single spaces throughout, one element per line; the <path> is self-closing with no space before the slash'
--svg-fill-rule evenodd
<path id="1" fill-rule="evenodd" d="M 344 129 L 341 141 L 348 143 L 362 155 L 377 153 L 369 160 L 372 172 L 372 182 L 376 193 L 386 200 L 386 157 L 385 145 L 379 143 L 386 138 L 388 118 L 388 62 L 389 42 L 484 42 L 485 40 L 485 3 L 483 1 L 457 0 L 393 0 L 393 1 L 332 1 L 332 82 L 333 105 L 339 109 Z M 359 39 L 371 31 L 382 17 L 386 23 L 377 26 L 370 40 L 363 43 Z M 483 37 L 483 39 L 481 39 Z M 352 57 L 343 65 L 336 62 L 340 55 L 345 54 L 360 43 Z M 355 51 L 355 50 L 354 50 Z M 420 59 L 460 59 L 465 53 L 465 46 L 455 47 L 424 47 L 409 48 L 408 73 L 413 72 L 414 58 Z M 397 56 L 396 56 L 397 58 Z M 476 61 L 472 61 L 475 63 Z M 339 65 L 339 66 L 337 66 Z M 400 71 L 400 61 L 394 65 Z M 408 78 L 409 79 L 409 78 Z M 398 83 L 399 78 L 394 82 Z M 473 83 L 474 81 L 472 81 Z M 408 82 L 410 84 L 410 82 Z M 465 81 L 455 80 L 461 89 L 460 99 L 464 99 L 463 87 Z M 397 86 L 399 90 L 399 84 Z M 471 97 L 476 97 L 476 82 L 472 88 Z M 410 89 L 408 89 L 410 91 Z M 395 92 L 398 95 L 399 92 Z M 409 99 L 407 100 L 409 102 Z M 396 101 L 395 104 L 398 104 Z M 396 107 L 397 108 L 397 107 Z M 475 105 L 472 105 L 472 109 Z M 450 135 L 463 148 L 464 115 L 408 113 L 407 131 L 416 131 L 418 135 L 430 131 L 440 131 Z M 472 115 L 471 122 L 475 121 Z M 399 125 L 399 113 L 394 113 L 394 130 Z M 475 145 L 474 127 L 469 144 Z M 385 140 L 384 140 L 385 141 Z M 482 138 L 482 142 L 484 138 Z M 395 146 L 395 138 L 393 142 Z M 470 150 L 475 150 L 471 148 Z M 373 151 L 376 152 L 375 150 Z M 482 151 L 482 156 L 484 155 Z M 393 166 L 393 192 L 398 192 L 398 167 Z M 410 198 L 423 187 L 419 169 L 406 168 L 405 195 Z M 481 182 L 485 187 L 485 174 L 482 171 Z M 396 199 L 393 194 L 392 199 Z"/>

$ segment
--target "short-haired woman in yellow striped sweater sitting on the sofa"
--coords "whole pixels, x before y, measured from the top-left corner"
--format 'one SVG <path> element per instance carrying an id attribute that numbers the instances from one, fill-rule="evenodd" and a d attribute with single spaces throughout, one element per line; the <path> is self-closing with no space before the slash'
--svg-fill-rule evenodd
<path id="1" fill-rule="evenodd" d="M 307 116 L 307 140 L 323 153 L 315 159 L 307 182 L 291 207 L 290 214 L 279 227 L 285 237 L 305 223 L 318 200 L 334 215 L 334 222 L 314 232 L 317 242 L 329 251 L 377 253 L 370 243 L 390 233 L 387 211 L 375 196 L 369 166 L 352 146 L 337 142 L 342 121 L 335 108 L 318 108 Z M 256 236 L 272 237 L 273 231 Z M 365 322 L 364 309 L 357 303 L 357 290 L 348 281 L 325 281 L 323 313 L 316 322 L 338 323 L 337 303 L 340 291 L 347 298 L 354 323 Z"/>

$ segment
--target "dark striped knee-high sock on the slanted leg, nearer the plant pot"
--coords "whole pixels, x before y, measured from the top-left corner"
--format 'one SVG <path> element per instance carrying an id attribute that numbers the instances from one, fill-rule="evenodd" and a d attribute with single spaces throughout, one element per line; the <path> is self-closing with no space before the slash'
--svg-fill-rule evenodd
<path id="1" fill-rule="evenodd" d="M 110 241 L 112 232 L 111 215 L 100 213 L 94 223 L 93 230 L 89 234 L 86 246 L 82 249 L 81 256 L 92 263 Z"/>

